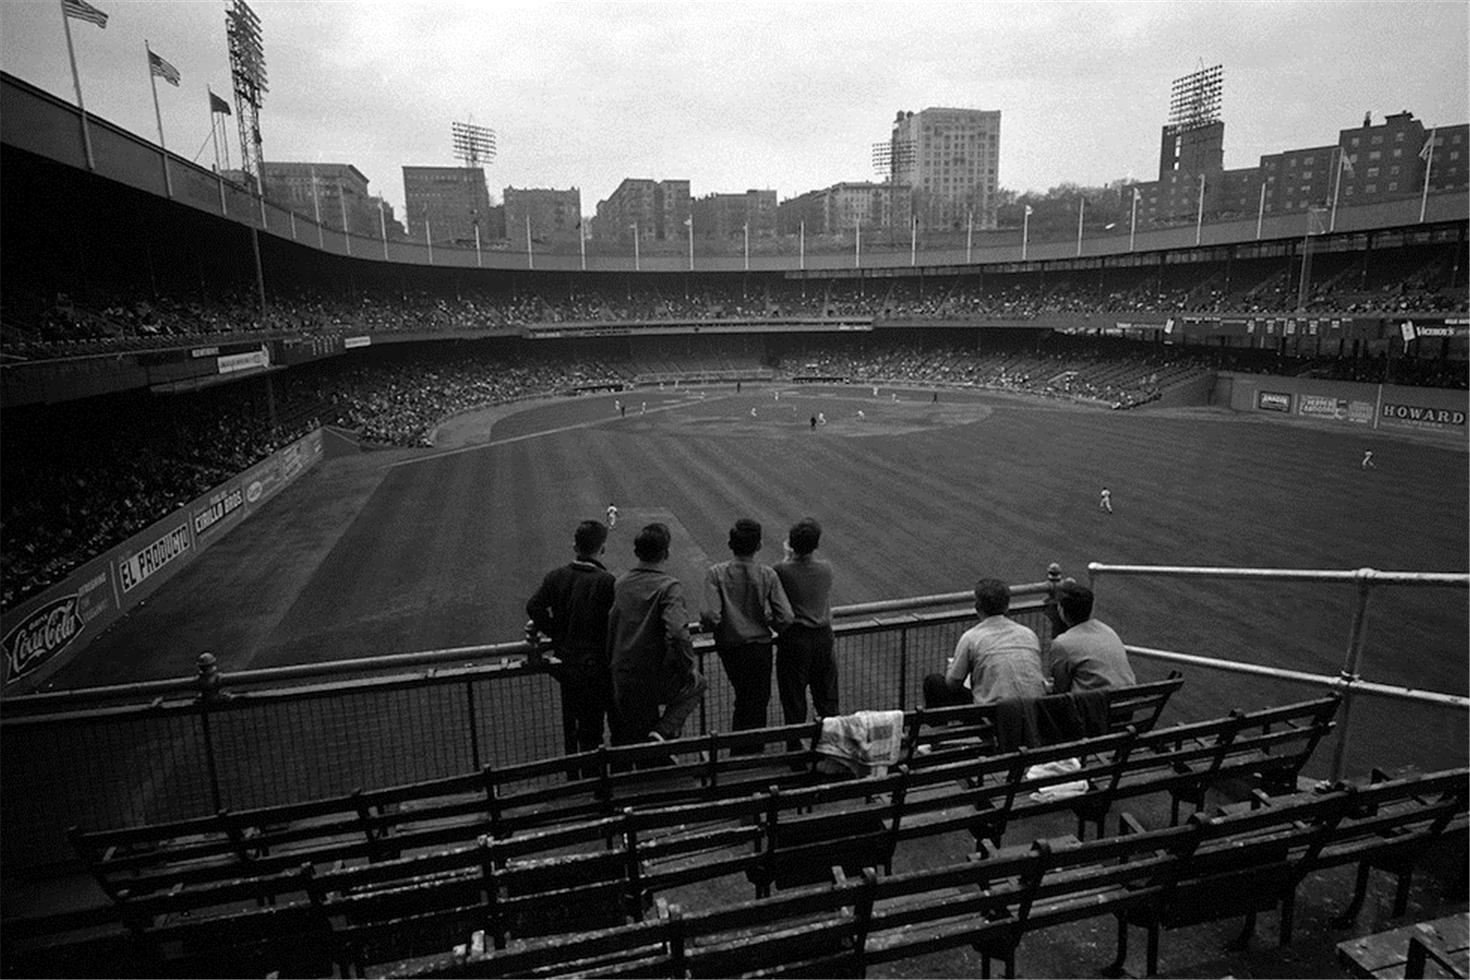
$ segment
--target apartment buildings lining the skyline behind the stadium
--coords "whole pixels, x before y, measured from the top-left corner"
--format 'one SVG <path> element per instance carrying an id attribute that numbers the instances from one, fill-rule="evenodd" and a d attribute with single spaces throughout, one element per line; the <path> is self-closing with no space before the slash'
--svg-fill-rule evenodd
<path id="1" fill-rule="evenodd" d="M 1201 215 L 1213 220 L 1363 204 L 1467 181 L 1470 125 L 1429 131 L 1410 112 L 1342 129 L 1336 143 L 1267 154 L 1254 167 L 1225 167 L 1219 116 L 1220 68 L 1175 81 L 1163 126 L 1158 179 L 1127 184 L 1138 226 Z M 581 239 L 639 242 L 853 235 L 856 229 L 908 234 L 991 229 L 998 225 L 1001 113 L 932 107 L 898 112 L 875 145 L 876 181 L 844 181 L 784 201 L 773 190 L 694 197 L 686 179 L 626 178 L 584 217 L 578 188 L 504 188 L 492 204 L 479 166 L 403 167 L 406 213 L 370 194 L 348 163 L 263 165 L 266 194 L 316 216 L 331 229 L 407 237 L 437 244 L 525 248 Z M 1014 209 L 1013 209 L 1014 210 Z"/>

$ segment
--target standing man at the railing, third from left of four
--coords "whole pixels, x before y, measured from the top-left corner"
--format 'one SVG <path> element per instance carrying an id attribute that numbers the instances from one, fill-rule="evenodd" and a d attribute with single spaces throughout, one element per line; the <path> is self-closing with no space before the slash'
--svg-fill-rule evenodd
<path id="1" fill-rule="evenodd" d="M 714 635 L 714 651 L 735 689 L 731 730 L 766 727 L 770 702 L 770 641 L 792 623 L 791 602 L 781 579 L 756 563 L 760 525 L 741 517 L 731 527 L 729 561 L 711 564 L 704 574 L 700 623 Z"/>

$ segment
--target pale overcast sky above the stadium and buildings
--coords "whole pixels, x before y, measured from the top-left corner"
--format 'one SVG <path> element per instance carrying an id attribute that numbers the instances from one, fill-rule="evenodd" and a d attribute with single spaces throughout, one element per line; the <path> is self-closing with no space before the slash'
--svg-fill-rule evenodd
<path id="1" fill-rule="evenodd" d="M 204 87 L 232 103 L 223 0 L 90 0 L 72 21 L 88 110 L 209 166 Z M 1463 0 L 1154 3 L 476 3 L 254 0 L 268 160 L 351 163 L 403 213 L 404 165 L 456 163 L 450 123 L 497 134 L 492 195 L 628 176 L 694 195 L 794 197 L 873 179 L 900 109 L 1001 112 L 1000 185 L 1157 173 L 1172 79 L 1225 66 L 1225 163 L 1332 143 L 1364 112 L 1470 119 Z M 0 3 L 0 68 L 75 101 L 57 0 Z M 231 157 L 238 160 L 231 126 Z"/>

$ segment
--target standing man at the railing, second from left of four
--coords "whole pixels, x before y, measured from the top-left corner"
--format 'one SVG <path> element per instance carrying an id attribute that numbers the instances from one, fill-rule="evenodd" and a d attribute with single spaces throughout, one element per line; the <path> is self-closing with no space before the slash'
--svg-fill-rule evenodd
<path id="1" fill-rule="evenodd" d="M 663 570 L 669 529 L 634 538 L 638 564 L 613 586 L 607 655 L 613 669 L 613 745 L 679 738 L 700 705 L 704 676 L 694 660 L 684 586 Z M 659 707 L 664 705 L 660 714 Z"/>

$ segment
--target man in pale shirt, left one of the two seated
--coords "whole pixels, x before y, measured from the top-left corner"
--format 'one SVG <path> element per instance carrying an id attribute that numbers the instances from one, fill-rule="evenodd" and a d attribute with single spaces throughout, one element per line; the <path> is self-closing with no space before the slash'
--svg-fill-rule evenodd
<path id="1" fill-rule="evenodd" d="M 980 621 L 960 636 L 948 670 L 923 679 L 925 707 L 1044 696 L 1047 676 L 1041 670 L 1041 641 L 1029 627 L 1005 616 L 1010 586 L 1000 579 L 976 582 L 975 611 Z"/>

